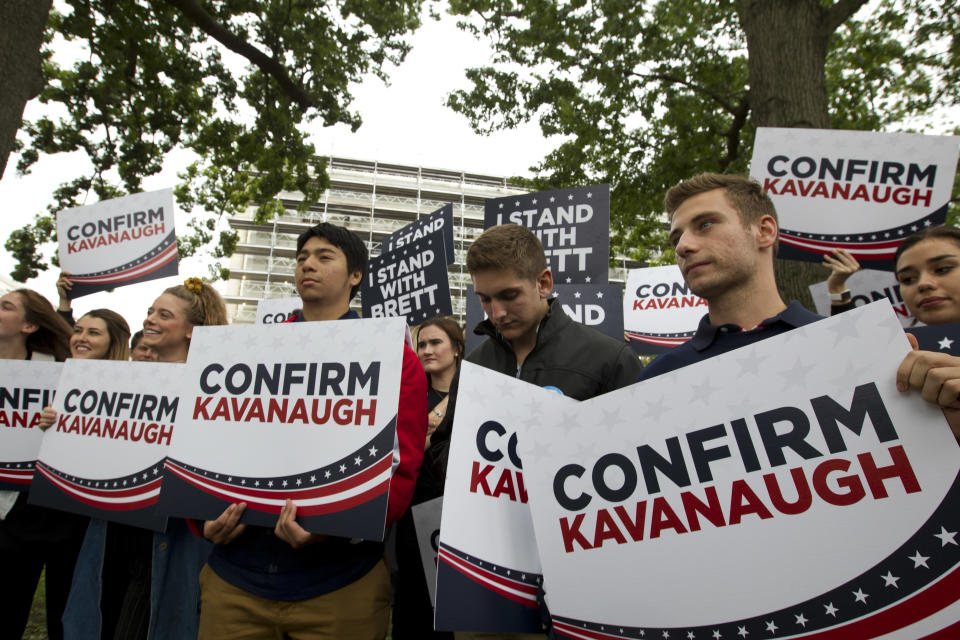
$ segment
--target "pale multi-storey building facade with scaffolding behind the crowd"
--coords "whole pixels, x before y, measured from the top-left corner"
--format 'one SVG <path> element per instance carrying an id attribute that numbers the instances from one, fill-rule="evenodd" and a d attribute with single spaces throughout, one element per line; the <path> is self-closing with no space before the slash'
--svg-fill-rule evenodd
<path id="1" fill-rule="evenodd" d="M 449 266 L 450 293 L 454 315 L 462 324 L 470 284 L 464 261 L 470 243 L 483 231 L 484 201 L 526 190 L 503 177 L 349 158 L 330 158 L 327 173 L 330 187 L 305 213 L 296 211 L 296 194 L 283 194 L 288 213 L 272 222 L 255 224 L 253 208 L 230 218 L 239 234 L 224 295 L 231 322 L 253 322 L 263 298 L 297 295 L 296 239 L 311 226 L 331 222 L 348 227 L 364 239 L 373 257 L 380 254 L 384 237 L 452 204 L 456 256 Z M 624 275 L 623 269 L 612 269 L 611 282 L 622 282 Z M 354 303 L 359 308 L 359 301 Z"/>

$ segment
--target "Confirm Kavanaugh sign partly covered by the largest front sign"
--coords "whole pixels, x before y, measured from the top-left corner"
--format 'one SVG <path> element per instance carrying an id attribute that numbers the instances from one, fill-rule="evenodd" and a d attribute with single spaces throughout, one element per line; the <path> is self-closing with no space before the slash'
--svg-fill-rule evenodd
<path id="1" fill-rule="evenodd" d="M 457 398 L 443 491 L 435 626 L 539 631 L 540 560 L 515 434 L 518 423 L 533 415 L 532 400 L 558 406 L 576 401 L 470 362 L 461 365 L 460 389 L 483 392 Z"/>

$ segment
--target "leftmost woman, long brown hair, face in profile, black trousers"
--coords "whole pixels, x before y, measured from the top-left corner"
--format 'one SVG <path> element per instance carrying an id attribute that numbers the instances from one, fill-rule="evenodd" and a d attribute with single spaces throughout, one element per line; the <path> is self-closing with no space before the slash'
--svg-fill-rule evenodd
<path id="1" fill-rule="evenodd" d="M 70 325 L 30 289 L 0 297 L 0 358 L 62 362 Z M 63 615 L 87 518 L 27 504 L 26 492 L 0 492 L 0 614 L 2 637 L 19 638 L 46 568 L 47 634 L 63 638 Z"/>

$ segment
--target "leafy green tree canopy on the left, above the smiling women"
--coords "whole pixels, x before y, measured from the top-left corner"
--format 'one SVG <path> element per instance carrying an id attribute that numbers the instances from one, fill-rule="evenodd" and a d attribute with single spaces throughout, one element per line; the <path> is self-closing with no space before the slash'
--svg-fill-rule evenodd
<path id="1" fill-rule="evenodd" d="M 48 17 L 41 102 L 57 116 L 25 123 L 17 170 L 41 154 L 81 151 L 89 171 L 65 181 L 48 213 L 15 231 L 7 249 L 18 280 L 46 269 L 40 245 L 55 236 L 55 212 L 141 190 L 168 153 L 195 161 L 176 189 L 181 207 L 200 207 L 181 257 L 214 239 L 216 218 L 257 207 L 282 212 L 282 191 L 308 207 L 328 184 L 303 125 L 360 125 L 349 84 L 384 78 L 420 22 L 421 0 L 63 0 Z M 54 46 L 81 53 L 58 62 Z M 215 256 L 235 237 L 221 232 Z"/>

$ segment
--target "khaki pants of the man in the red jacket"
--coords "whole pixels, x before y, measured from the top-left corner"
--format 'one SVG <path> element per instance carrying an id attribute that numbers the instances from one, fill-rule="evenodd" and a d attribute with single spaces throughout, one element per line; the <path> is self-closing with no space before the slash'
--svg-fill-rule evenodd
<path id="1" fill-rule="evenodd" d="M 285 602 L 238 589 L 205 565 L 200 602 L 199 640 L 382 640 L 390 620 L 390 573 L 380 561 L 353 584 Z"/>

